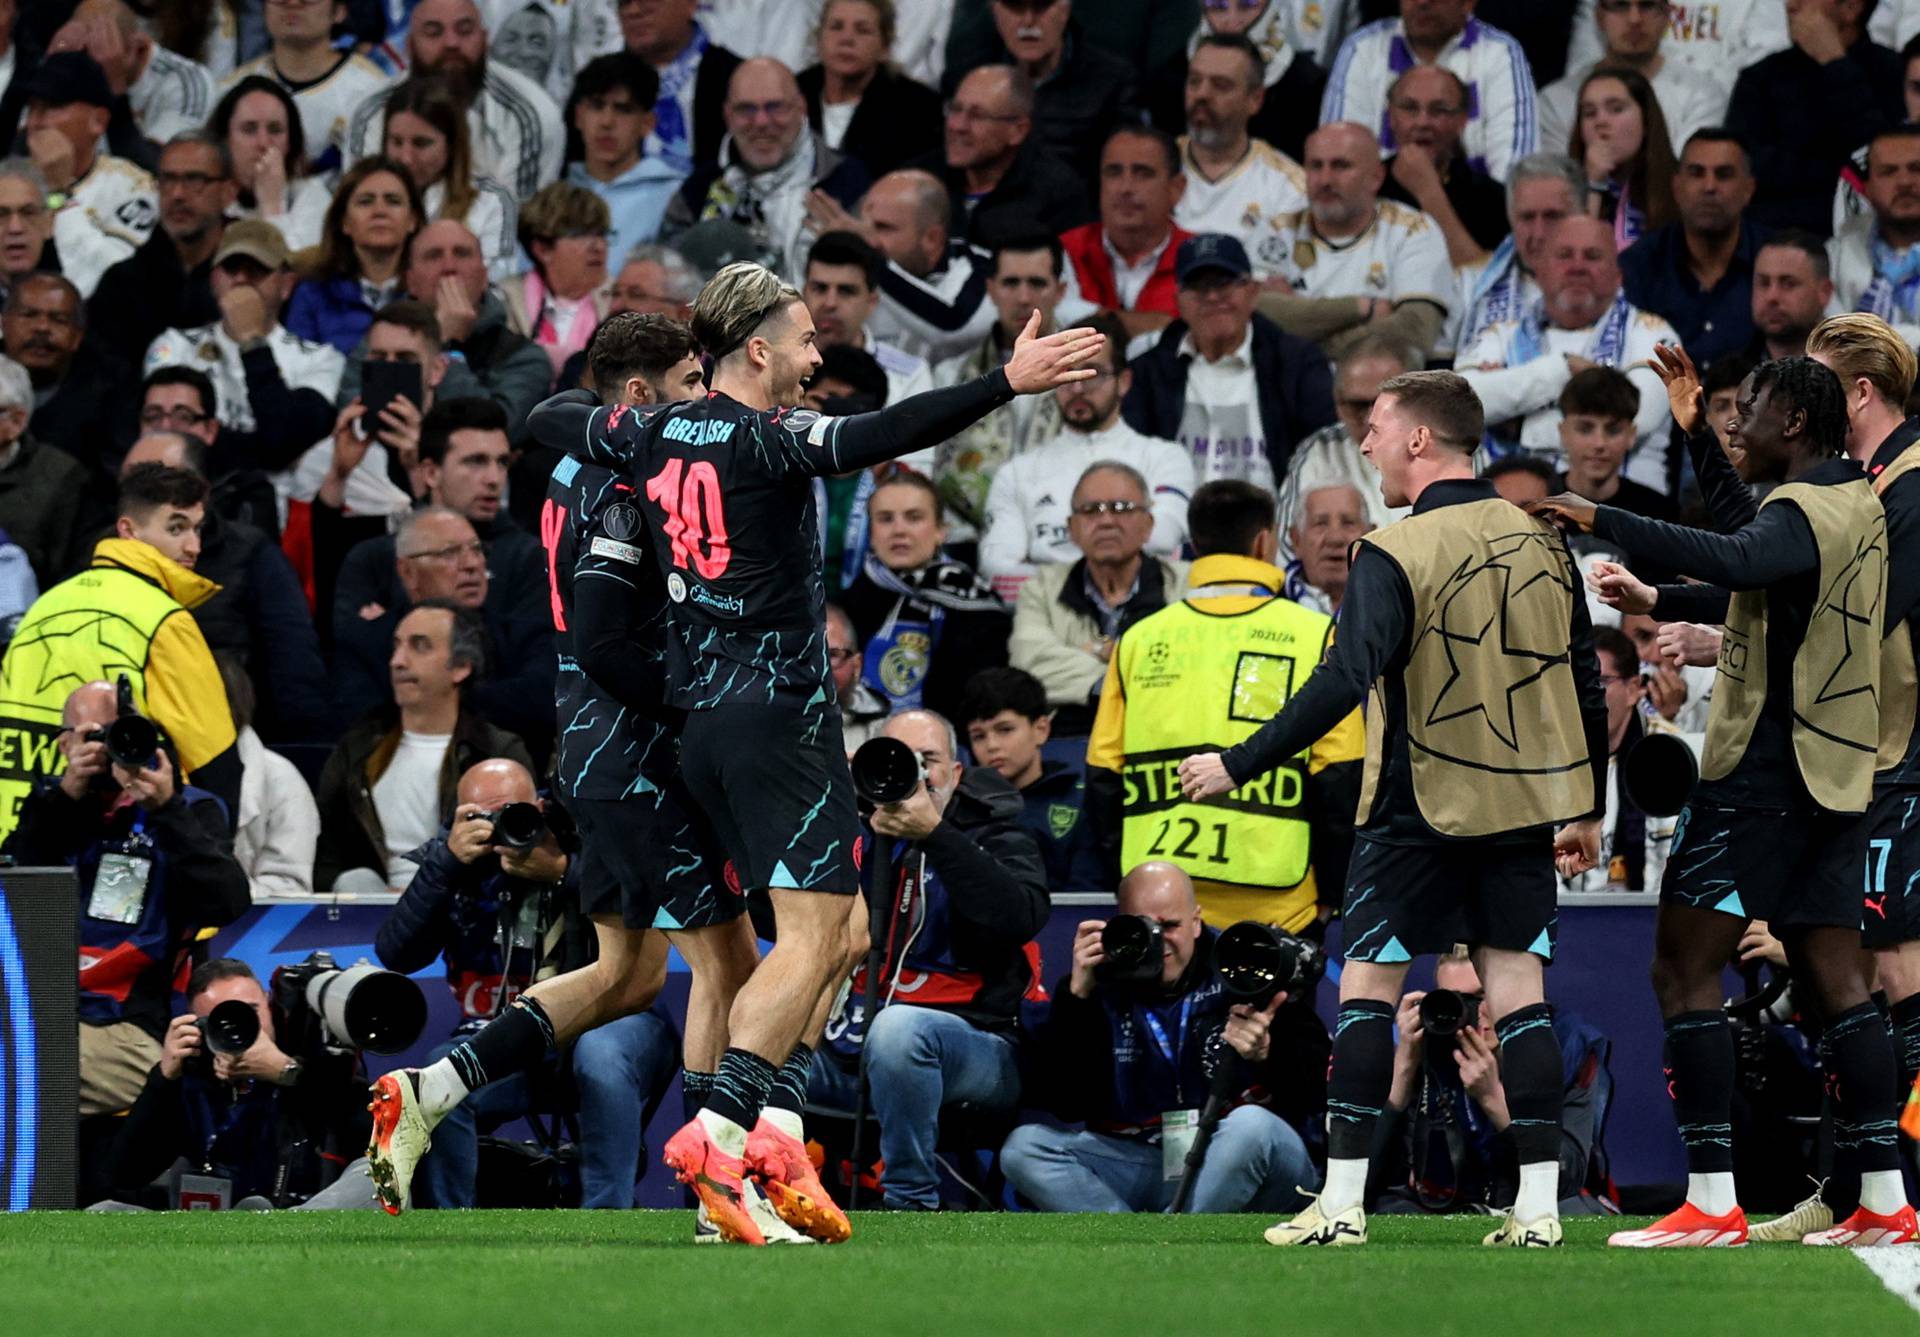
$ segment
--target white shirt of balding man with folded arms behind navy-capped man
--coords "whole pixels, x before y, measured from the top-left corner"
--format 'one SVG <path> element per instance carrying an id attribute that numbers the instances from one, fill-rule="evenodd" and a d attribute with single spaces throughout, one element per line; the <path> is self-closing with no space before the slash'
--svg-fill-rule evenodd
<path id="1" fill-rule="evenodd" d="M 1380 200 L 1357 236 L 1327 240 L 1308 209 L 1277 213 L 1260 238 L 1254 265 L 1265 265 L 1304 298 L 1386 298 L 1432 302 L 1450 311 L 1453 265 L 1440 227 L 1394 200 Z"/>

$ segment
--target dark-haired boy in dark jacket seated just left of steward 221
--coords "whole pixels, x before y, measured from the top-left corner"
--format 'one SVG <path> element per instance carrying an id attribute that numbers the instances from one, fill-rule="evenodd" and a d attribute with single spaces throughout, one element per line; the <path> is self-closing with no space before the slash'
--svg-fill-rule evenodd
<path id="1" fill-rule="evenodd" d="M 1020 790 L 1021 824 L 1046 866 L 1046 889 L 1106 891 L 1085 820 L 1087 776 L 1077 765 L 1043 755 L 1052 738 L 1054 711 L 1046 688 L 1021 668 L 983 668 L 966 688 L 968 749 Z"/>

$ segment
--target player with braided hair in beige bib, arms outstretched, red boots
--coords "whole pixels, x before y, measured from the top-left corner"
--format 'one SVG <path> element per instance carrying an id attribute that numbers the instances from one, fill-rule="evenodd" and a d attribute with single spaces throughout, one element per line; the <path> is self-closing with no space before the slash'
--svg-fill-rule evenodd
<path id="1" fill-rule="evenodd" d="M 1893 1043 L 1860 953 L 1857 855 L 1880 741 L 1885 513 L 1845 457 L 1845 398 L 1820 363 L 1761 363 L 1740 386 L 1728 436 L 1740 450 L 1738 474 L 1707 432 L 1692 359 L 1661 348 L 1657 371 L 1722 532 L 1574 496 L 1534 507 L 1647 563 L 1711 582 L 1653 590 L 1601 563 L 1592 582 L 1609 603 L 1663 620 L 1726 624 L 1701 784 L 1667 855 L 1653 947 L 1688 1197 L 1653 1226 L 1617 1231 L 1607 1243 L 1747 1243 L 1747 1216 L 1734 1201 L 1734 1037 L 1720 1009 L 1720 970 L 1749 918 L 1764 918 L 1786 943 L 1795 978 L 1826 1022 L 1820 1043 L 1836 1135 L 1853 1143 L 1860 1164 L 1860 1214 L 1809 1233 L 1807 1243 L 1912 1239 L 1893 1135 Z M 1755 505 L 1743 480 L 1780 486 Z"/>

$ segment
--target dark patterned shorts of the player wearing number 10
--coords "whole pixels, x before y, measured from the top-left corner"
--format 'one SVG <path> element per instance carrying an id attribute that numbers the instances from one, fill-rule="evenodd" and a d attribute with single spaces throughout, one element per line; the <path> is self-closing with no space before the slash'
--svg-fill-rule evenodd
<path id="1" fill-rule="evenodd" d="M 680 774 L 745 889 L 860 889 L 860 816 L 831 705 L 774 699 L 687 711 Z"/>

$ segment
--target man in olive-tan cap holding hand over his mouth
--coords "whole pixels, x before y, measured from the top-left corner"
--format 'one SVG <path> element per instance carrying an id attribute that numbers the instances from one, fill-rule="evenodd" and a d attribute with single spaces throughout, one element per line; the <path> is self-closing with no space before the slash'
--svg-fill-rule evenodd
<path id="1" fill-rule="evenodd" d="M 213 382 L 215 403 L 202 411 L 219 413 L 225 434 L 215 455 L 219 474 L 234 467 L 288 469 L 332 425 L 344 359 L 332 344 L 305 340 L 280 325 L 280 305 L 294 288 L 288 265 L 286 242 L 273 223 L 228 223 L 209 273 L 213 319 L 163 328 L 146 348 L 148 375 L 192 367 Z"/>

